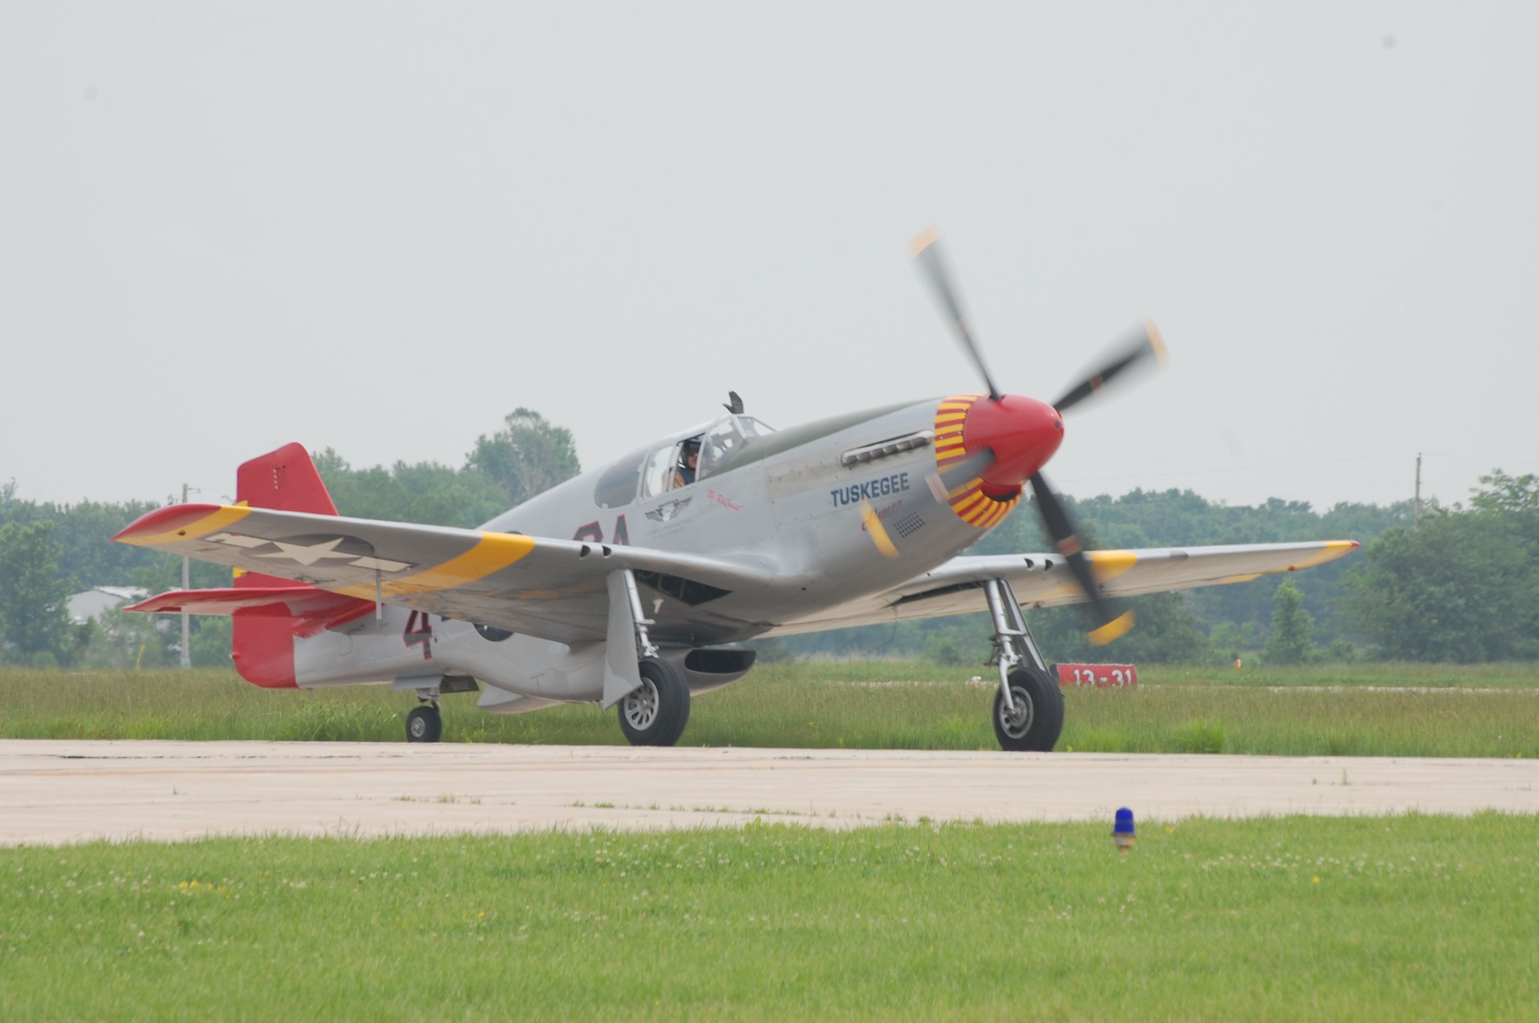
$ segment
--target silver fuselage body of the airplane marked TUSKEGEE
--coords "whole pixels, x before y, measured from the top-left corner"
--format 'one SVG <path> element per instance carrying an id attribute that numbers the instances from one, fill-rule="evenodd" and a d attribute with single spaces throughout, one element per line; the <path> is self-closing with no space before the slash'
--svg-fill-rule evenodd
<path id="1" fill-rule="evenodd" d="M 770 434 L 691 485 L 600 503 L 600 489 L 613 497 L 613 482 L 629 468 L 640 477 L 654 452 L 697 432 L 682 431 L 566 480 L 482 529 L 709 552 L 763 571 L 763 585 L 731 592 L 697 592 L 688 580 L 643 577 L 653 637 L 665 657 L 683 665 L 691 649 L 737 643 L 788 621 L 816 621 L 822 611 L 888 591 L 985 535 L 986 529 L 965 521 L 946 502 L 928 443 L 846 465 L 851 451 L 931 431 L 937 403 L 931 398 Z M 600 488 L 606 480 L 611 486 Z M 868 529 L 870 514 L 891 538 L 886 551 Z M 411 688 L 420 677 L 465 674 L 496 686 L 482 697 L 482 706 L 496 712 L 599 698 L 602 641 L 488 640 L 469 623 L 445 618 L 432 623 L 431 645 L 403 649 L 408 614 L 386 608 L 383 620 L 360 618 L 299 640 L 299 685 L 394 681 Z M 697 689 L 729 680 L 686 675 Z"/>

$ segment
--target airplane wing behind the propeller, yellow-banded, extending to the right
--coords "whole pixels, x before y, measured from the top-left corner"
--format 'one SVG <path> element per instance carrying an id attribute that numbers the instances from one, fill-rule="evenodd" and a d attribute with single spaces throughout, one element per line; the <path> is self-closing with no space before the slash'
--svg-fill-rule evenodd
<path id="1" fill-rule="evenodd" d="M 1293 572 L 1351 554 L 1356 540 L 1307 543 L 1239 543 L 1231 546 L 1087 551 L 1091 571 L 1110 597 L 1136 597 L 1170 589 L 1248 583 L 1262 575 Z M 820 632 L 902 618 L 983 611 L 980 583 L 1007 578 L 1025 608 L 1083 603 L 1063 558 L 1057 554 L 994 554 L 956 557 L 880 597 L 830 609 L 816 620 L 793 621 L 773 634 Z"/>

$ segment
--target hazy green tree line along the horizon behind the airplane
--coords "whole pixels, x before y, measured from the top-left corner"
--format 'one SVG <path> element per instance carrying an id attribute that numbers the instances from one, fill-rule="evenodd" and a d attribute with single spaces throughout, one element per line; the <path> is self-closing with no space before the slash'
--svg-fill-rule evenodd
<path id="1" fill-rule="evenodd" d="M 580 471 L 571 432 L 516 409 L 483 434 L 459 465 L 439 462 L 354 468 L 334 449 L 314 455 L 343 515 L 477 526 Z M 1210 502 L 1193 491 L 1134 489 L 1120 497 L 1065 497 L 1087 546 L 1153 548 L 1290 540 L 1357 540 L 1362 549 L 1288 577 L 1137 597 L 1137 628 L 1090 648 L 1077 608 L 1028 614 L 1057 660 L 1270 663 L 1359 657 L 1433 661 L 1539 657 L 1539 477 L 1493 471 L 1468 503 Z M 175 663 L 179 629 L 109 612 L 71 626 L 71 592 L 132 585 L 180 586 L 180 558 L 109 543 L 155 505 L 38 503 L 15 482 L 0 486 L 0 657 L 11 663 L 145 668 Z M 1025 503 L 971 554 L 1048 551 Z M 192 563 L 192 586 L 226 586 L 229 569 Z M 228 663 L 226 618 L 194 618 L 195 663 Z M 774 655 L 925 655 L 971 663 L 988 646 L 983 615 L 870 626 L 766 643 Z"/>

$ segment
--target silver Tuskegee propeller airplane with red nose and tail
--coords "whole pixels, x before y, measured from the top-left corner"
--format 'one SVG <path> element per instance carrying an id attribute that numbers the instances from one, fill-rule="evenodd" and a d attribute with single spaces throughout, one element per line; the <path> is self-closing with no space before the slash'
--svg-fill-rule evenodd
<path id="1" fill-rule="evenodd" d="M 235 572 L 229 588 L 129 609 L 232 615 L 235 669 L 259 686 L 412 691 L 408 741 L 439 741 L 440 697 L 479 691 L 492 714 L 617 708 L 639 746 L 677 743 L 691 700 L 753 668 L 748 640 L 986 609 L 999 745 L 1051 751 L 1063 695 L 1022 608 L 1083 603 L 1090 638 L 1108 643 L 1133 625 L 1110 598 L 1307 569 L 1357 546 L 1082 549 L 1042 468 L 1063 442 L 1063 412 L 1163 362 L 1159 331 L 1137 328 L 1051 405 L 1005 394 L 933 232 L 914 258 L 985 392 L 779 431 L 731 394 L 725 415 L 479 529 L 340 517 L 291 443 L 237 469 L 234 505 L 162 508 L 114 537 Z M 962 554 L 1027 488 L 1056 549 Z"/>

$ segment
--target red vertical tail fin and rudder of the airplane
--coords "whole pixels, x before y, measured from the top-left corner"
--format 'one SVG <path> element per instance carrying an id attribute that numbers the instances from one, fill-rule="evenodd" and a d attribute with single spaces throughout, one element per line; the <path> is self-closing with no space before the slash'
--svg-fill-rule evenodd
<path id="1" fill-rule="evenodd" d="M 337 514 L 315 463 L 300 445 L 283 445 L 235 469 L 235 500 L 252 508 Z M 294 581 L 246 572 L 235 577 L 235 586 L 294 586 Z M 231 654 L 240 677 L 268 689 L 297 688 L 294 635 L 300 620 L 248 615 L 237 611 L 232 623 Z"/>

